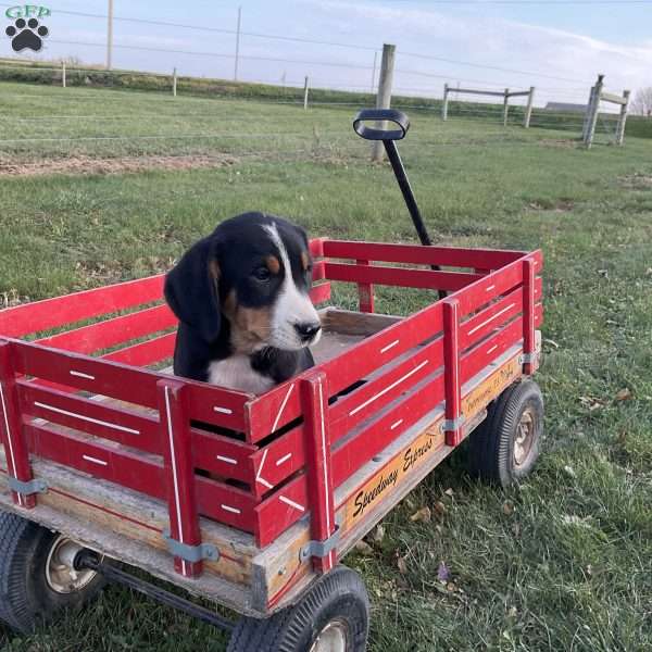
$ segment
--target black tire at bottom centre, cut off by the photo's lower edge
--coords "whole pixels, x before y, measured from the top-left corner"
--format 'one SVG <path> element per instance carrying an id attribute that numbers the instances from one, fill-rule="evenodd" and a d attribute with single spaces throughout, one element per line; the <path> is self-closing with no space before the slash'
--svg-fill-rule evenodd
<path id="1" fill-rule="evenodd" d="M 227 652 L 308 652 L 333 620 L 346 625 L 347 652 L 366 650 L 369 599 L 358 573 L 346 566 L 321 577 L 297 604 L 266 620 L 240 618 Z"/>

